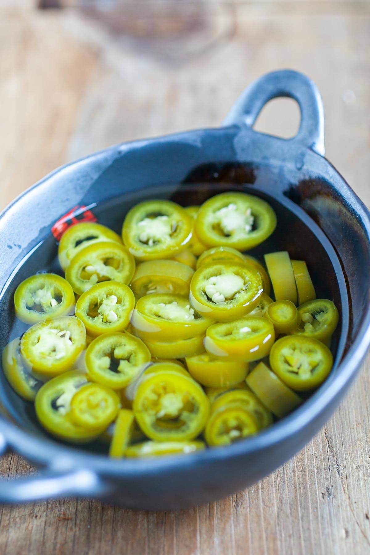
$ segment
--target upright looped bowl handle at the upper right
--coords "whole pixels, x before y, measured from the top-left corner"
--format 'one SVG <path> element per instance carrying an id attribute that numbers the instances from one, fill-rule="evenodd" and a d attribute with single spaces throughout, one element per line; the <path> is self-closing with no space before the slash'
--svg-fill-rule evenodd
<path id="1" fill-rule="evenodd" d="M 311 79 L 292 69 L 266 73 L 253 81 L 236 100 L 223 124 L 252 127 L 263 106 L 277 97 L 295 99 L 301 110 L 300 128 L 291 140 L 299 140 L 323 156 L 324 110 L 320 92 Z"/>

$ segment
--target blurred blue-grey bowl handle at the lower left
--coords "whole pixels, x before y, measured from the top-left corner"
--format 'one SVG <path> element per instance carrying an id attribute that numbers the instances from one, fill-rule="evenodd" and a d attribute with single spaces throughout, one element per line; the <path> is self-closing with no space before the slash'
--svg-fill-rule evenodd
<path id="1" fill-rule="evenodd" d="M 0 452 L 6 443 L 0 436 Z M 90 470 L 44 470 L 36 476 L 0 480 L 0 503 L 26 503 L 68 496 L 99 497 L 104 486 Z"/>

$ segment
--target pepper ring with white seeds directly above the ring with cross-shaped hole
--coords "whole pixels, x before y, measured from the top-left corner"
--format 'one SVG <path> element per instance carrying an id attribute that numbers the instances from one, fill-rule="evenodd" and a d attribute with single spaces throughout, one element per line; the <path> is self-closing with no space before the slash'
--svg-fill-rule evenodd
<path id="1" fill-rule="evenodd" d="M 96 337 L 108 331 L 123 331 L 130 323 L 135 297 L 119 281 L 103 281 L 85 291 L 76 303 L 75 315 L 87 332 Z"/>

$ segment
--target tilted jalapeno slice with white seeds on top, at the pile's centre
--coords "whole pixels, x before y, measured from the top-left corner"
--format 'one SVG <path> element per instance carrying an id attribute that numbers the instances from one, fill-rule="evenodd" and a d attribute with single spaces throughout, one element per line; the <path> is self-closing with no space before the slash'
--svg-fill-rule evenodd
<path id="1" fill-rule="evenodd" d="M 180 295 L 141 297 L 131 316 L 135 334 L 148 341 L 173 341 L 204 335 L 213 320 L 198 314 Z"/>

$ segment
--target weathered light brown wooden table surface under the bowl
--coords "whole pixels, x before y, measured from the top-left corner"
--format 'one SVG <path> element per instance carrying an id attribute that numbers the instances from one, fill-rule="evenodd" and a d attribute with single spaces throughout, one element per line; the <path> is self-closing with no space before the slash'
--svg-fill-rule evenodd
<path id="1" fill-rule="evenodd" d="M 89 4 L 0 2 L 1 208 L 67 160 L 122 140 L 219 125 L 252 79 L 281 67 L 318 84 L 327 157 L 370 205 L 370 3 Z M 289 137 L 298 121 L 296 104 L 280 99 L 257 128 Z M 245 491 L 179 512 L 84 499 L 4 506 L 0 553 L 369 553 L 368 369 L 369 358 L 296 457 Z M 32 472 L 12 453 L 0 470 Z"/>

